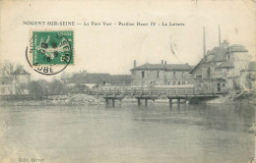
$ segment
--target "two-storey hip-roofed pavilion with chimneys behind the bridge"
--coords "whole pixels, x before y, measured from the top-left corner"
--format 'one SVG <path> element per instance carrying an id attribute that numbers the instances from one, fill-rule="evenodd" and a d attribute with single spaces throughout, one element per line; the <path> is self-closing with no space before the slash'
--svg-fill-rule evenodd
<path id="1" fill-rule="evenodd" d="M 131 69 L 132 86 L 181 85 L 191 83 L 190 71 L 193 67 L 188 64 L 146 63 Z"/>

